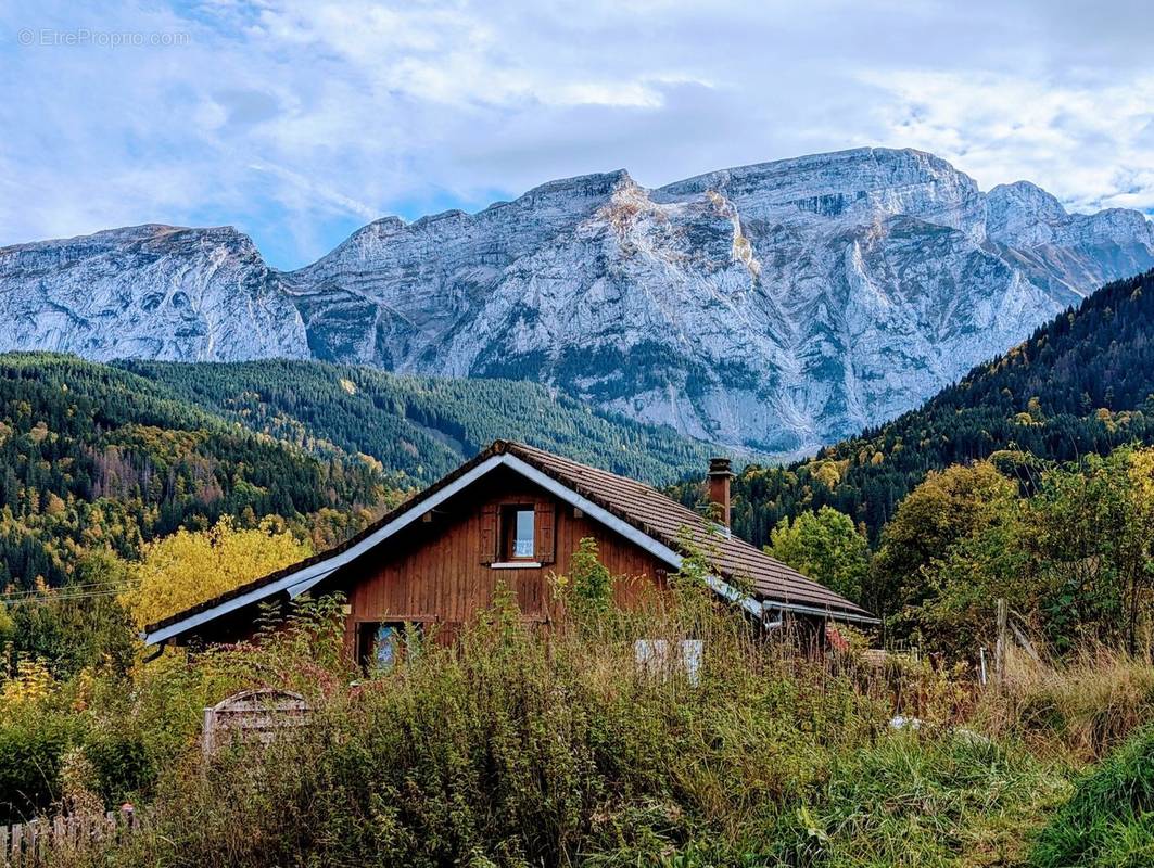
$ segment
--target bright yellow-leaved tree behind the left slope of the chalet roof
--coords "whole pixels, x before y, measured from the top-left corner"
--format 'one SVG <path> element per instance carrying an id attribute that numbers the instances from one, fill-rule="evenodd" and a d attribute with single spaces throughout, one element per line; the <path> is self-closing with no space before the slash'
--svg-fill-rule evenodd
<path id="1" fill-rule="evenodd" d="M 312 553 L 308 543 L 273 519 L 248 529 L 228 516 L 208 530 L 181 528 L 144 548 L 125 603 L 143 627 Z"/>

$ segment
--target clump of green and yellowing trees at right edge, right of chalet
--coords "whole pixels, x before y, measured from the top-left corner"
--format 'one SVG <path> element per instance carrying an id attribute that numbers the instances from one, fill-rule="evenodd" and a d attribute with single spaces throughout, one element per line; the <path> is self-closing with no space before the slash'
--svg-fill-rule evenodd
<path id="1" fill-rule="evenodd" d="M 991 469 L 953 475 L 974 480 Z M 990 477 L 952 488 L 950 498 L 942 478 L 931 477 L 906 499 L 900 527 L 896 519 L 886 529 L 885 566 L 900 571 L 906 589 L 905 607 L 891 619 L 896 632 L 952 656 L 972 655 L 992 643 L 1001 598 L 1055 651 L 1093 644 L 1148 651 L 1154 450 L 1054 466 L 1036 490 L 1016 489 Z M 914 544 L 919 533 L 930 548 Z"/>

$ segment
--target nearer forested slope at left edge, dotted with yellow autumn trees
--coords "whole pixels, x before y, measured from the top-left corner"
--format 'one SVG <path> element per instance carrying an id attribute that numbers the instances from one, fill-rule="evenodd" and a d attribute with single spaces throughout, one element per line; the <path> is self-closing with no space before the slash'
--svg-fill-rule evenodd
<path id="1" fill-rule="evenodd" d="M 324 543 L 397 497 L 376 462 L 319 458 L 163 384 L 48 354 L 0 356 L 0 588 L 61 584 L 87 553 L 133 556 L 220 515 L 308 515 Z"/>

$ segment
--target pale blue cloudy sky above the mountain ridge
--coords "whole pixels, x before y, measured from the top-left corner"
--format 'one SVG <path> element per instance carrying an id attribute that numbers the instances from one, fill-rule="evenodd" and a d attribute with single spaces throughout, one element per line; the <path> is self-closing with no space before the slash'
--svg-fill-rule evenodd
<path id="1" fill-rule="evenodd" d="M 292 269 L 556 178 L 863 145 L 1154 213 L 1154 0 L 99 6 L 0 0 L 0 246 L 231 224 Z"/>

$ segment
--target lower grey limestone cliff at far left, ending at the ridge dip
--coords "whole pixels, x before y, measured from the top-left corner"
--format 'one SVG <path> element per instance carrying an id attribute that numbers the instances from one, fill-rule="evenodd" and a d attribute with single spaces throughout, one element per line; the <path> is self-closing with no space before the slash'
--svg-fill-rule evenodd
<path id="1" fill-rule="evenodd" d="M 231 227 L 134 226 L 0 249 L 0 350 L 308 357 L 279 276 Z"/>

